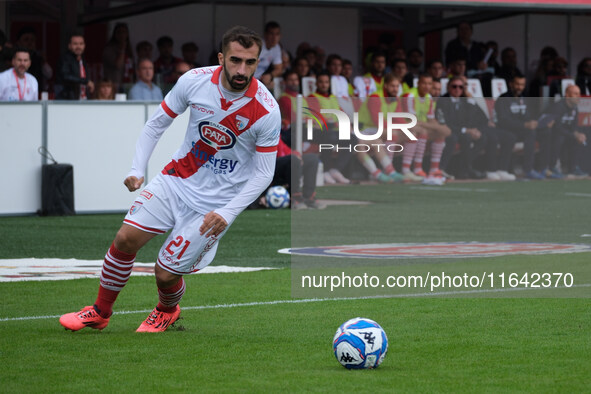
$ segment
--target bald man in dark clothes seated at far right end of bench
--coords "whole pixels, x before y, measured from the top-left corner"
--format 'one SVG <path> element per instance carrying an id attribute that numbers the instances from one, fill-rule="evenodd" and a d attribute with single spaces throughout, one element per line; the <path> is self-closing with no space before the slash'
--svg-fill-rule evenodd
<path id="1" fill-rule="evenodd" d="M 546 171 L 546 175 L 550 178 L 564 177 L 561 168 L 557 165 L 563 146 L 566 148 L 567 155 L 563 156 L 560 162 L 562 170 L 578 177 L 588 176 L 581 170 L 581 164 L 585 154 L 589 154 L 587 144 L 590 133 L 588 128 L 581 129 L 578 125 L 580 98 L 579 87 L 570 85 L 566 88 L 565 98 L 551 104 L 540 117 L 540 127 L 548 127 L 552 130 L 549 170 Z"/>

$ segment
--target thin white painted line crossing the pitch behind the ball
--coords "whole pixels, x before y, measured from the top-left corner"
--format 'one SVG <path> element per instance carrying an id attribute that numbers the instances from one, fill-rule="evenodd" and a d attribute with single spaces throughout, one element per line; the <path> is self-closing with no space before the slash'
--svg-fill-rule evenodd
<path id="1" fill-rule="evenodd" d="M 275 301 L 254 301 L 244 302 L 239 304 L 217 304 L 217 305 L 199 305 L 199 306 L 184 306 L 183 311 L 195 311 L 205 309 L 228 309 L 228 308 L 243 308 L 248 306 L 270 306 L 281 304 L 305 304 L 311 302 L 325 302 L 325 301 L 356 301 L 356 300 L 375 300 L 387 298 L 421 298 L 434 297 L 445 295 L 463 295 L 463 294 L 486 294 L 486 293 L 501 293 L 505 291 L 523 291 L 523 290 L 550 290 L 550 289 L 571 289 L 574 287 L 591 287 L 591 283 L 584 283 L 580 285 L 573 285 L 571 287 L 558 286 L 547 288 L 528 288 L 528 287 L 513 287 L 513 288 L 499 288 L 499 289 L 485 289 L 485 290 L 466 290 L 466 291 L 442 291 L 442 292 L 427 292 L 427 293 L 413 293 L 413 294 L 389 294 L 366 297 L 335 297 L 335 298 L 304 298 L 298 300 L 275 300 Z M 113 315 L 132 315 L 138 313 L 149 313 L 152 309 L 142 309 L 137 311 L 118 311 Z M 0 318 L 0 323 L 9 321 L 26 321 L 26 320 L 41 320 L 41 319 L 58 319 L 61 315 L 51 316 L 23 316 L 23 317 L 3 317 Z"/>

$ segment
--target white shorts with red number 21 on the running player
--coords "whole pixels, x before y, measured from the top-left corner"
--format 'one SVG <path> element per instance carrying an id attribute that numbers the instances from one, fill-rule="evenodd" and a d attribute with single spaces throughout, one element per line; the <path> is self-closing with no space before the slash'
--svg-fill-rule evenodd
<path id="1" fill-rule="evenodd" d="M 142 190 L 123 222 L 140 230 L 170 234 L 158 252 L 157 264 L 168 272 L 186 275 L 213 261 L 217 237 L 199 234 L 204 215 L 189 208 L 158 175 Z"/>

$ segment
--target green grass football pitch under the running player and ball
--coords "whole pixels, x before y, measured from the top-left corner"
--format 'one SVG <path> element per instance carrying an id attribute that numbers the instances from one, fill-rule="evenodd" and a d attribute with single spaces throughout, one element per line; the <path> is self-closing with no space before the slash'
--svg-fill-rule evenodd
<path id="1" fill-rule="evenodd" d="M 588 181 L 450 184 L 439 191 L 330 187 L 319 197 L 374 204 L 296 212 L 325 219 L 326 228 L 318 230 L 333 234 L 318 240 L 295 225 L 296 246 L 364 243 L 363 233 L 348 224 L 383 204 L 396 204 L 392 226 L 404 231 L 373 234 L 375 243 L 589 243 L 581 235 L 591 233 Z M 121 220 L 0 218 L 0 258 L 102 259 Z M 137 260 L 153 261 L 162 240 L 149 243 Z M 115 305 L 119 313 L 102 332 L 66 332 L 56 317 L 92 303 L 96 279 L 0 283 L 0 392 L 589 391 L 591 288 L 587 298 L 301 302 L 292 298 L 290 258 L 277 253 L 291 244 L 288 210 L 243 213 L 215 263 L 277 269 L 186 277 L 182 319 L 157 335 L 134 332 L 157 302 L 150 277 L 130 279 Z M 504 262 L 582 266 L 590 257 L 515 256 Z M 356 316 L 376 320 L 388 335 L 388 355 L 376 370 L 348 371 L 332 354 L 337 327 Z"/>

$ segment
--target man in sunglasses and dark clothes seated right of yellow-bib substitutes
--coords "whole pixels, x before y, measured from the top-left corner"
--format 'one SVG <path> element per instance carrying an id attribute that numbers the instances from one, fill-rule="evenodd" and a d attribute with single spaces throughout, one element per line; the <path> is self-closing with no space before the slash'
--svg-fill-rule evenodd
<path id="1" fill-rule="evenodd" d="M 468 98 L 464 91 L 462 78 L 453 77 L 449 81 L 448 93 L 445 95 L 449 99 L 437 102 L 438 121 L 445 123 L 452 131 L 445 140 L 443 169 L 447 169 L 448 160 L 459 143 L 461 162 L 457 178 L 515 180 L 515 175 L 508 172 L 515 136 L 495 128 L 494 123 L 488 120 L 482 109 L 473 99 Z M 485 151 L 486 174 L 473 167 L 474 160 L 482 150 Z"/>

